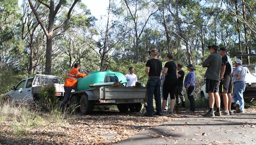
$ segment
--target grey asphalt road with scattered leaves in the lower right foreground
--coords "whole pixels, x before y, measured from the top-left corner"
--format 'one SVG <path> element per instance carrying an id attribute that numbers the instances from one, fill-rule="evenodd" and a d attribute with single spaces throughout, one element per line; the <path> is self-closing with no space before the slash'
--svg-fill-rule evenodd
<path id="1" fill-rule="evenodd" d="M 256 145 L 256 113 L 214 118 L 185 116 L 152 127 L 117 145 Z"/>

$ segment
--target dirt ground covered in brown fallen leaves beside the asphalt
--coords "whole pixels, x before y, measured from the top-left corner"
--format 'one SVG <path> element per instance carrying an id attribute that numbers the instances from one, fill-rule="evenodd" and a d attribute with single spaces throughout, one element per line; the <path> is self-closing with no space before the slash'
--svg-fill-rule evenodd
<path id="1" fill-rule="evenodd" d="M 0 144 L 115 144 L 130 136 L 169 121 L 187 116 L 201 116 L 207 109 L 197 109 L 195 113 L 181 111 L 180 114 L 143 117 L 141 113 L 121 113 L 119 111 L 95 111 L 92 115 L 77 114 L 62 124 L 50 122 L 31 129 L 22 136 L 12 135 L 11 120 L 0 124 Z M 256 107 L 246 107 L 246 113 L 256 112 Z"/>

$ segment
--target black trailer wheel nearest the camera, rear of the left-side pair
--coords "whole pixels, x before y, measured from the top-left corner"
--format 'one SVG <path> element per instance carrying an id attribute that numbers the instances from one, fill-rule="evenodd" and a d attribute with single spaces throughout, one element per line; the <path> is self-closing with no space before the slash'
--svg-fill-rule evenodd
<path id="1" fill-rule="evenodd" d="M 88 100 L 87 94 L 83 94 L 80 99 L 80 111 L 82 114 L 91 114 L 93 111 L 93 102 Z"/>

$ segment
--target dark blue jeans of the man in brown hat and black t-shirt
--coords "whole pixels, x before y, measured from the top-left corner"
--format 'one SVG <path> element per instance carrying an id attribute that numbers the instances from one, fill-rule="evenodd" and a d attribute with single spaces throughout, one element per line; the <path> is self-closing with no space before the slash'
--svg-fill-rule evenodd
<path id="1" fill-rule="evenodd" d="M 161 80 L 160 78 L 149 78 L 147 82 L 147 113 L 153 114 L 153 95 L 156 101 L 156 111 L 161 112 Z"/>

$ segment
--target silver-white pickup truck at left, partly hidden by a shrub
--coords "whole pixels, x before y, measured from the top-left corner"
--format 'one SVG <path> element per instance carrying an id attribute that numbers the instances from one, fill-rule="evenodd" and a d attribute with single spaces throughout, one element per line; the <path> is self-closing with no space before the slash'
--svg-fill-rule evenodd
<path id="1" fill-rule="evenodd" d="M 37 99 L 37 95 L 41 92 L 42 87 L 53 84 L 56 88 L 56 96 L 61 100 L 64 96 L 64 84 L 61 84 L 58 76 L 36 74 L 33 78 L 21 80 L 12 91 L 4 94 L 3 99 L 13 101 L 27 101 L 33 103 Z"/>

